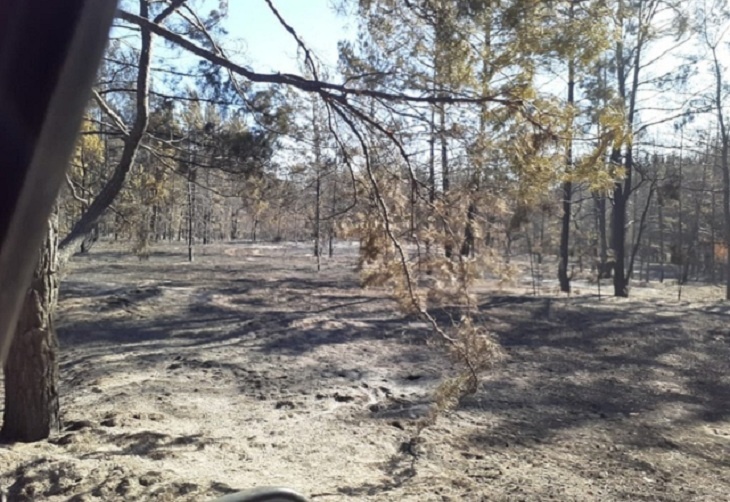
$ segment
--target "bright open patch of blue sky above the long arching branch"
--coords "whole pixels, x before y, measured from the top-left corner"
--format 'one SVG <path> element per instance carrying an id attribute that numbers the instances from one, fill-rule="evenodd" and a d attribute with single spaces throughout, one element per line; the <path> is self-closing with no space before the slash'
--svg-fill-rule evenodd
<path id="1" fill-rule="evenodd" d="M 272 0 L 282 17 L 327 65 L 337 63 L 337 42 L 353 39 L 356 26 L 337 15 L 333 0 Z M 212 2 L 213 3 L 213 2 Z M 245 60 L 259 72 L 299 73 L 297 46 L 264 0 L 229 0 L 226 28 L 245 42 Z"/>

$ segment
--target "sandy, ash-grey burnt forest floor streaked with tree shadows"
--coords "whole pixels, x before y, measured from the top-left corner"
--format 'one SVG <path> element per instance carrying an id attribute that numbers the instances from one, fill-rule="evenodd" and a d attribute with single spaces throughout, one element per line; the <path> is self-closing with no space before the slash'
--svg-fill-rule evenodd
<path id="1" fill-rule="evenodd" d="M 480 288 L 506 359 L 409 443 L 449 364 L 356 248 L 99 245 L 58 313 L 64 430 L 0 446 L 9 501 L 730 500 L 730 304 L 650 283 Z M 607 285 L 606 285 L 607 286 Z M 552 289 L 551 289 L 552 288 Z M 408 446 L 408 447 L 405 447 Z M 0 496 L 2 499 L 2 496 Z"/>

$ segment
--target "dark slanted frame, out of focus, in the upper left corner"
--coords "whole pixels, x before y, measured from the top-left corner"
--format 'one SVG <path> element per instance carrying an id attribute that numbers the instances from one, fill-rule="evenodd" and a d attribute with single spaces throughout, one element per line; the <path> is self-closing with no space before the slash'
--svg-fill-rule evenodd
<path id="1" fill-rule="evenodd" d="M 0 2 L 0 362 L 115 8 L 116 0 Z"/>

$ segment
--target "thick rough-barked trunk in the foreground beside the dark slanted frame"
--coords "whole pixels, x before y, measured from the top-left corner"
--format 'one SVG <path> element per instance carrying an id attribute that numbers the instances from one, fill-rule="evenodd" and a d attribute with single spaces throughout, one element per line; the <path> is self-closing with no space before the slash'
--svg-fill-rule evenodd
<path id="1" fill-rule="evenodd" d="M 39 441 L 60 428 L 58 339 L 52 318 L 59 286 L 55 211 L 39 255 L 4 368 L 4 441 Z"/>

